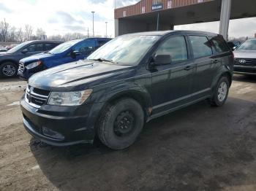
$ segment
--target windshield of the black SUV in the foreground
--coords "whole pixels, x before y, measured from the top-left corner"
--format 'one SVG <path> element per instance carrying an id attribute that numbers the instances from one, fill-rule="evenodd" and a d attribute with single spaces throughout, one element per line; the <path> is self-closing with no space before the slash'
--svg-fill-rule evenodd
<path id="1" fill-rule="evenodd" d="M 129 34 L 119 36 L 93 52 L 87 60 L 112 61 L 120 65 L 136 65 L 158 39 L 159 36 Z"/>

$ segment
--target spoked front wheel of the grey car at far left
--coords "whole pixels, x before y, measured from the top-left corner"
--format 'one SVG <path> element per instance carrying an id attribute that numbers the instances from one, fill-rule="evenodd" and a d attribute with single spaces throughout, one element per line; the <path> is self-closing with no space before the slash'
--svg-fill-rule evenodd
<path id="1" fill-rule="evenodd" d="M 18 67 L 15 63 L 5 62 L 0 65 L 0 77 L 10 78 L 17 76 Z"/>

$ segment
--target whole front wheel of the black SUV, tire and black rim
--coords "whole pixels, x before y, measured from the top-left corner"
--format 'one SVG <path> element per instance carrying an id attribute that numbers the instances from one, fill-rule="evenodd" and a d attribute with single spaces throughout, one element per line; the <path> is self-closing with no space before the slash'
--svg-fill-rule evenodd
<path id="1" fill-rule="evenodd" d="M 125 149 L 135 142 L 143 125 L 144 112 L 140 104 L 132 98 L 123 98 L 102 112 L 97 134 L 110 149 Z"/>

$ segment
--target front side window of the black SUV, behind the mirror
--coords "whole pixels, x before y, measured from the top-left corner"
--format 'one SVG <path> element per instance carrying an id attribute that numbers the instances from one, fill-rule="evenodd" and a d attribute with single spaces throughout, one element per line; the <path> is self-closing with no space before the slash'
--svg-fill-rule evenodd
<path id="1" fill-rule="evenodd" d="M 159 46 L 156 55 L 170 55 L 172 61 L 187 60 L 187 45 L 184 36 L 167 39 Z"/>

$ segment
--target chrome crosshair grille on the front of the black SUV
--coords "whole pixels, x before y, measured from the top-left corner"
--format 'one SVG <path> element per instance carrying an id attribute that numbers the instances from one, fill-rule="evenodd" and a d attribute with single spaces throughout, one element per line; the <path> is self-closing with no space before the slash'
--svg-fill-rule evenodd
<path id="1" fill-rule="evenodd" d="M 49 94 L 50 91 L 48 90 L 41 90 L 27 85 L 25 100 L 29 105 L 35 108 L 40 108 L 43 104 L 46 103 Z"/>

